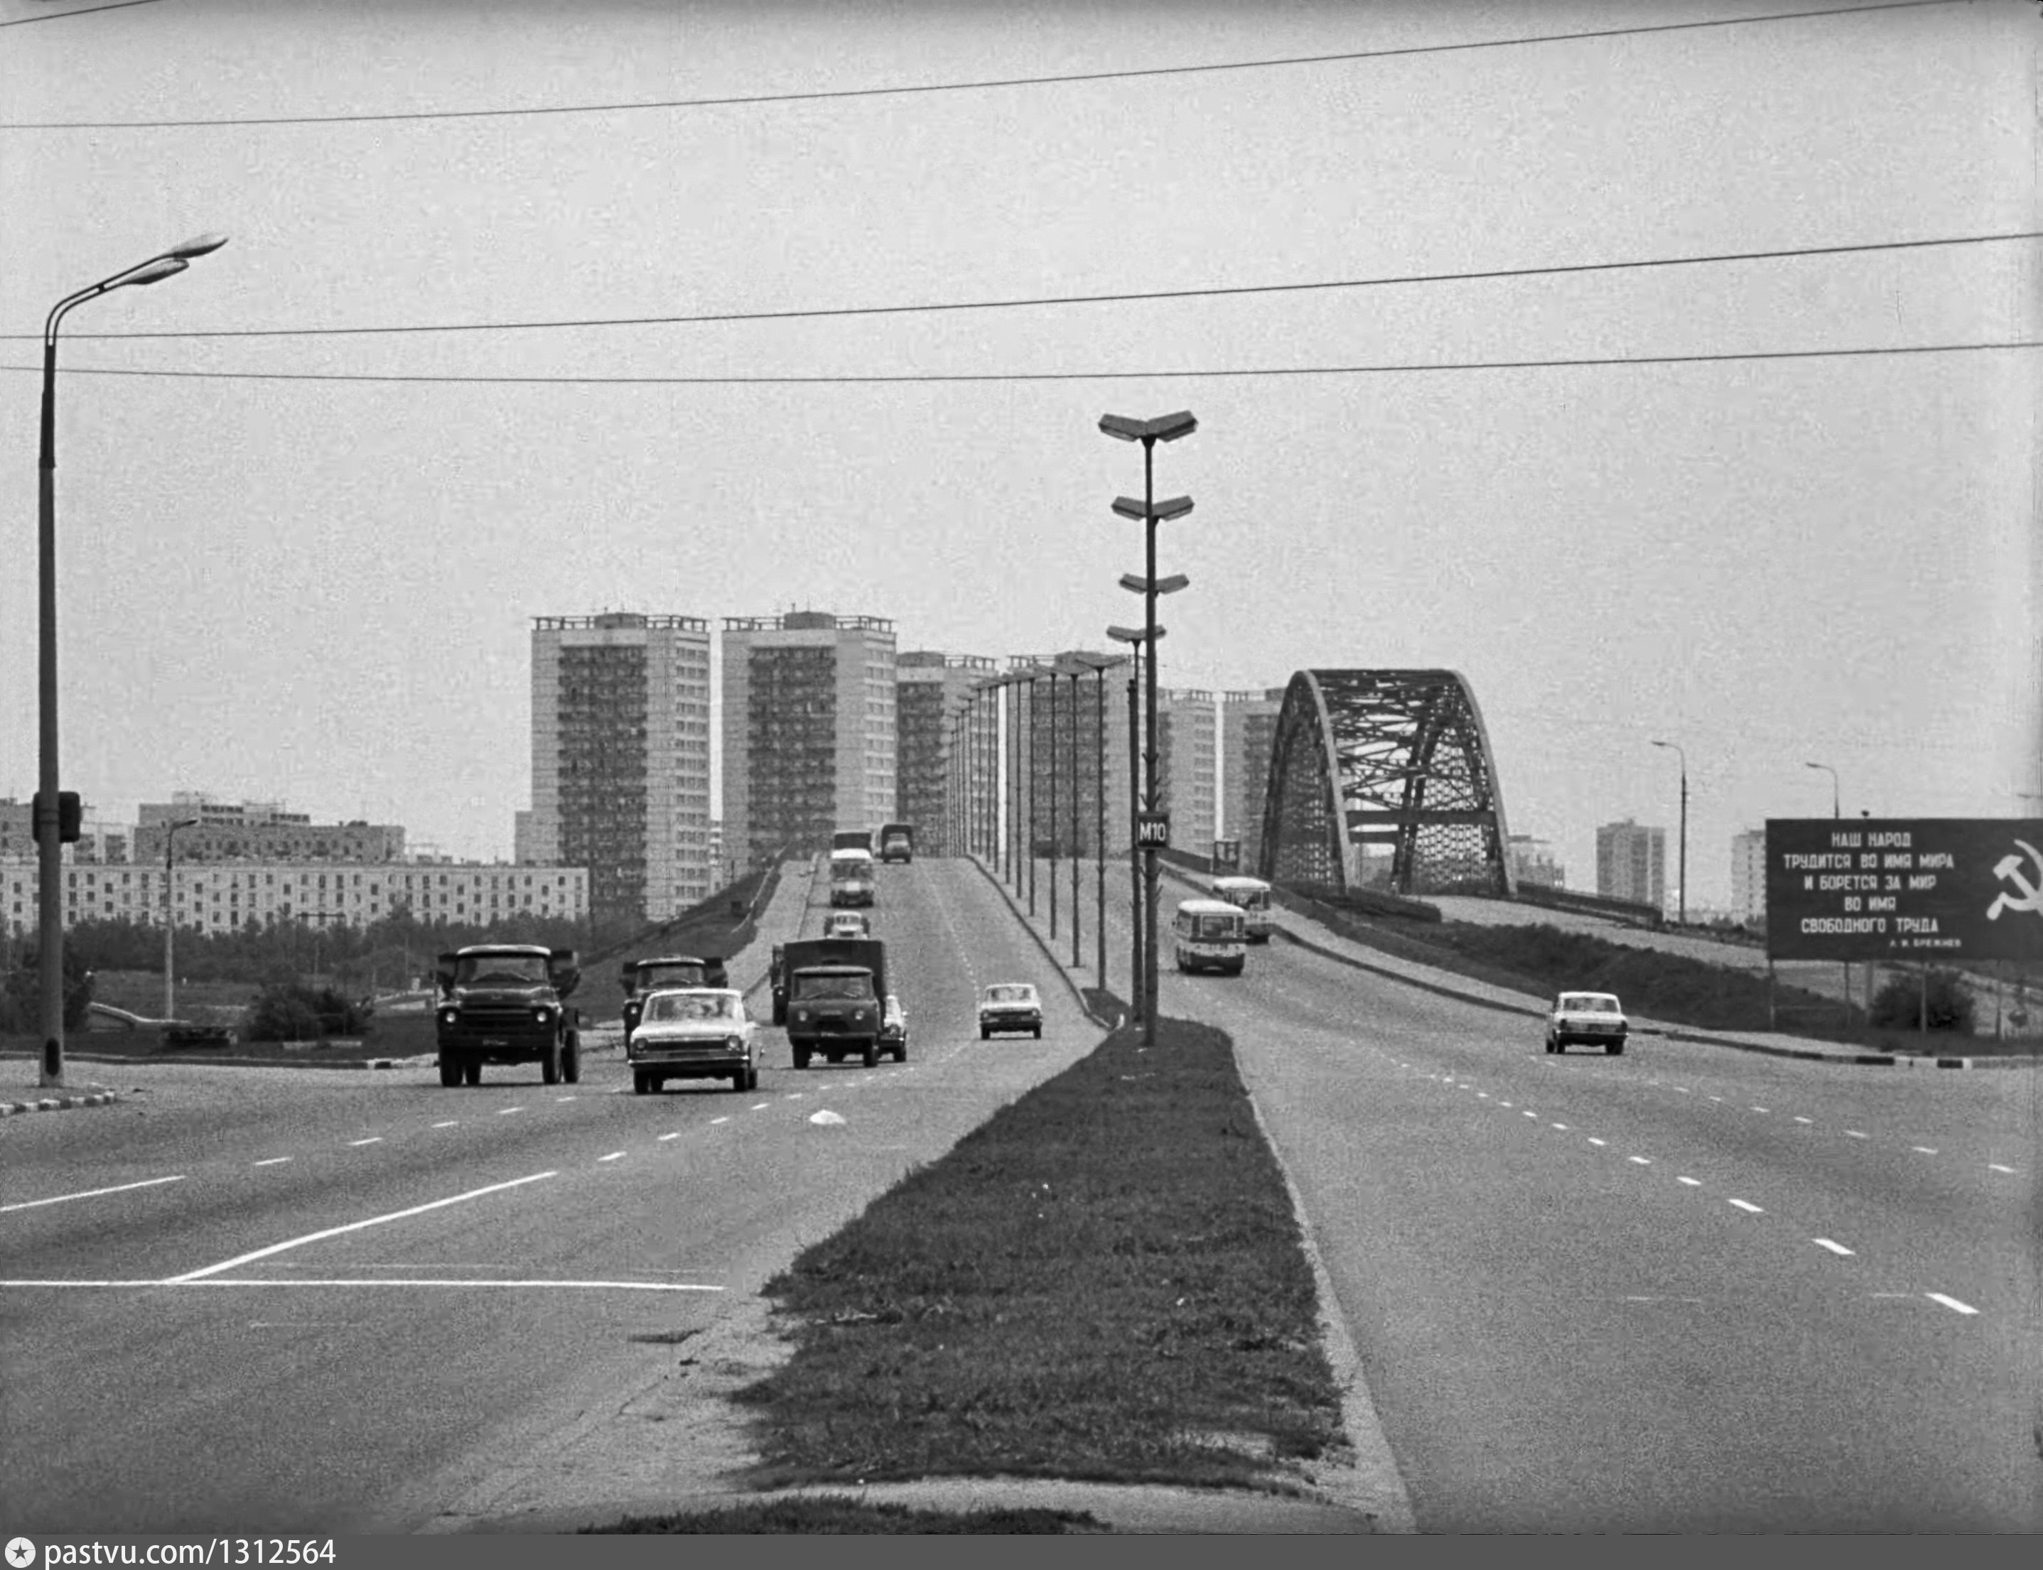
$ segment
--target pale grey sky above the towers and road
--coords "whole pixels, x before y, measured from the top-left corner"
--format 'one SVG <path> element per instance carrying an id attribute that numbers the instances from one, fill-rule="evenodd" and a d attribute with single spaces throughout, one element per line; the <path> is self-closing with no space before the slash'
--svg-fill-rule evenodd
<path id="1" fill-rule="evenodd" d="M 43 318 L 223 233 L 61 327 L 106 823 L 509 857 L 533 617 L 1107 647 L 1097 423 L 1179 408 L 1165 686 L 1457 670 L 1575 888 L 1600 823 L 1673 864 L 1683 770 L 1690 906 L 1831 813 L 1812 762 L 2039 815 L 2039 47 L 2029 0 L 0 0 L 0 796 Z"/>

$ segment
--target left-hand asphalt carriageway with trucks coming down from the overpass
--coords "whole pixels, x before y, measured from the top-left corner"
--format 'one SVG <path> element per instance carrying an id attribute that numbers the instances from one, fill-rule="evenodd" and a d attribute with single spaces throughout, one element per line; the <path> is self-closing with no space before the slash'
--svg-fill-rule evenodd
<path id="1" fill-rule="evenodd" d="M 819 931 L 803 894 L 735 980 L 797 919 Z M 0 1517 L 409 1531 L 615 1409 L 678 1337 L 1097 1041 L 964 864 L 883 868 L 874 933 L 907 1064 L 797 1072 L 764 1025 L 750 1094 L 635 1096 L 615 1051 L 576 1086 L 151 1070 L 145 1096 L 0 1125 Z M 1040 1043 L 979 1041 L 989 980 L 1042 986 Z"/>

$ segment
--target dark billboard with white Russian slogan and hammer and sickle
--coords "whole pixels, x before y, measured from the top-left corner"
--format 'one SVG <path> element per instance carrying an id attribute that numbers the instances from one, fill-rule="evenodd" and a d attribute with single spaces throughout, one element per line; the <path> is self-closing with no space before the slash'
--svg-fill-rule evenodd
<path id="1" fill-rule="evenodd" d="M 2043 960 L 2043 819 L 1767 819 L 1773 960 Z"/>

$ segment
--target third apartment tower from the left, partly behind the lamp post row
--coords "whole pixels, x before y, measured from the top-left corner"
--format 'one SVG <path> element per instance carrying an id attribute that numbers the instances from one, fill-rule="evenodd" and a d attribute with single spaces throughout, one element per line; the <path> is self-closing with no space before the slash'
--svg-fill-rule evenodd
<path id="1" fill-rule="evenodd" d="M 993 843 L 985 823 L 999 776 L 999 702 L 993 692 L 975 702 L 972 692 L 995 674 L 993 659 L 975 653 L 909 649 L 895 657 L 899 774 L 891 821 L 913 825 L 925 855 L 960 855 L 966 815 L 975 837 Z"/>

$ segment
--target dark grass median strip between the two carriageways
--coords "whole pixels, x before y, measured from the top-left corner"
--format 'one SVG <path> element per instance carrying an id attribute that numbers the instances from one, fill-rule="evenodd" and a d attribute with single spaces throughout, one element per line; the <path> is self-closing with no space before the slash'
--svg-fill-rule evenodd
<path id="1" fill-rule="evenodd" d="M 766 1284 L 764 1486 L 1283 1486 L 1342 1443 L 1283 1172 L 1230 1039 L 1138 1029 L 995 1113 Z"/>

